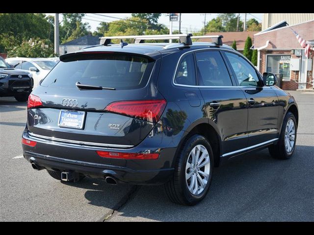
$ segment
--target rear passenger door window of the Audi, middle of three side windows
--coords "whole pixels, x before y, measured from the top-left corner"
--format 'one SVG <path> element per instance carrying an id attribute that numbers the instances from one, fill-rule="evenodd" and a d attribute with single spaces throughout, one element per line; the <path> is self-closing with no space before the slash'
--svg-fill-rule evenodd
<path id="1" fill-rule="evenodd" d="M 196 53 L 200 86 L 232 86 L 227 67 L 219 51 Z"/>

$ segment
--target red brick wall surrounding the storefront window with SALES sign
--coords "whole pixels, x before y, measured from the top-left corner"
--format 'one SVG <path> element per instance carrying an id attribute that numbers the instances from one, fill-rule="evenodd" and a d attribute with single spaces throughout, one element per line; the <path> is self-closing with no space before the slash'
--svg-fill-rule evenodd
<path id="1" fill-rule="evenodd" d="M 266 72 L 266 55 L 267 54 L 285 54 L 285 55 L 291 55 L 290 50 L 261 50 L 261 60 L 260 60 L 260 72 Z M 299 58 L 298 56 L 291 55 L 291 58 Z M 314 61 L 314 51 L 312 50 L 310 53 L 310 58 Z M 307 88 L 313 88 L 309 82 L 312 81 L 312 72 L 308 72 L 307 76 Z M 298 89 L 298 81 L 299 81 L 299 71 L 290 71 L 290 81 L 283 81 L 282 89 L 284 90 L 297 90 Z"/>

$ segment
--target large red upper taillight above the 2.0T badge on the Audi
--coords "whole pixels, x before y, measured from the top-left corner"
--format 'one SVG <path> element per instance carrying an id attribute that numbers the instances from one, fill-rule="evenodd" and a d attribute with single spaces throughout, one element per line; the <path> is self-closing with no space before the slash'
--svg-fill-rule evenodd
<path id="1" fill-rule="evenodd" d="M 106 111 L 157 122 L 167 102 L 164 99 L 117 101 L 105 107 Z"/>

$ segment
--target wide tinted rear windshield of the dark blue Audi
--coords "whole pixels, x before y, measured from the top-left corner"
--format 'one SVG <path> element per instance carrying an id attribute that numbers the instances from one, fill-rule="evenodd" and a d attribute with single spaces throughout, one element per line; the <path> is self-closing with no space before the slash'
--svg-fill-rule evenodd
<path id="1" fill-rule="evenodd" d="M 75 88 L 84 85 L 139 89 L 146 86 L 154 61 L 146 57 L 108 54 L 85 55 L 60 61 L 42 81 L 41 86 Z"/>

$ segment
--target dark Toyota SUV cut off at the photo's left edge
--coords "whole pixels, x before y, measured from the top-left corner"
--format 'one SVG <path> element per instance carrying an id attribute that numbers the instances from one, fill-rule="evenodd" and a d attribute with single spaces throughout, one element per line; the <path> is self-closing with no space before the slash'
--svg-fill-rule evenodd
<path id="1" fill-rule="evenodd" d="M 0 97 L 14 96 L 17 101 L 27 101 L 32 88 L 32 74 L 12 69 L 0 56 Z"/>

